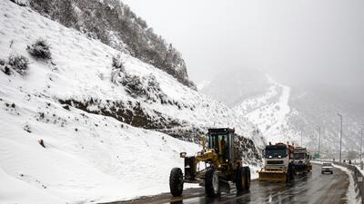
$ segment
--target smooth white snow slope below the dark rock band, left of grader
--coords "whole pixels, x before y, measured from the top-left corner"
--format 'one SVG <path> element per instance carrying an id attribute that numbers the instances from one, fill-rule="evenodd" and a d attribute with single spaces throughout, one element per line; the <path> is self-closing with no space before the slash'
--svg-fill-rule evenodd
<path id="1" fill-rule="evenodd" d="M 194 154 L 200 149 L 112 118 L 68 112 L 53 102 L 49 110 L 53 113 L 37 121 L 36 104 L 41 102 L 13 102 L 14 110 L 0 102 L 0 168 L 1 176 L 8 178 L 6 187 L 15 188 L 7 199 L 14 203 L 91 203 L 167 192 L 169 170 L 183 167 L 178 153 Z M 58 118 L 66 119 L 63 127 Z M 31 132 L 24 130 L 25 124 Z M 33 199 L 23 198 L 23 191 L 16 189 L 30 189 L 35 192 Z M 0 188 L 0 193 L 9 192 Z M 43 194 L 47 195 L 43 200 L 36 199 Z"/>

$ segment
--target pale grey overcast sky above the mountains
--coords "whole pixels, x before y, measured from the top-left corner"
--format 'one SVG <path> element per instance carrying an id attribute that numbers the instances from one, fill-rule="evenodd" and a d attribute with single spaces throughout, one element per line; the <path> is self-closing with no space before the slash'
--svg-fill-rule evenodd
<path id="1" fill-rule="evenodd" d="M 177 47 L 196 83 L 226 69 L 257 68 L 281 83 L 364 102 L 363 0 L 123 2 Z"/>

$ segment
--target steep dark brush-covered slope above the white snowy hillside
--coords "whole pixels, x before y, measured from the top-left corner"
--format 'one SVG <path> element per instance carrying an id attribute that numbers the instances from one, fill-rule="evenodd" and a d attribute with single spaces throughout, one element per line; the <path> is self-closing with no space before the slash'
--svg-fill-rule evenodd
<path id="1" fill-rule="evenodd" d="M 120 0 L 29 0 L 28 5 L 66 27 L 126 52 L 196 89 L 181 54 Z"/>

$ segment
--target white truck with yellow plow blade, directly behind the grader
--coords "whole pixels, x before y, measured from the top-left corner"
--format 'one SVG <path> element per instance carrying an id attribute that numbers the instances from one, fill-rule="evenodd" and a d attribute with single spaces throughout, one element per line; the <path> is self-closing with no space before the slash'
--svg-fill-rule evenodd
<path id="1" fill-rule="evenodd" d="M 263 151 L 264 167 L 258 171 L 259 181 L 289 182 L 294 178 L 292 145 L 277 143 L 266 146 Z"/>

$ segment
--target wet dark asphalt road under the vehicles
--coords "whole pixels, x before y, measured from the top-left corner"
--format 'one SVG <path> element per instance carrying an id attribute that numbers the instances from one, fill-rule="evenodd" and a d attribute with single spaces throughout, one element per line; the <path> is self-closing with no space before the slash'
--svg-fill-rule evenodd
<path id="1" fill-rule="evenodd" d="M 259 183 L 253 181 L 248 192 L 243 194 L 221 195 L 217 199 L 207 199 L 203 189 L 187 189 L 182 198 L 173 198 L 170 194 L 146 197 L 108 204 L 146 204 L 146 203 L 312 203 L 343 204 L 349 203 L 346 197 L 349 176 L 346 172 L 335 169 L 334 174 L 321 174 L 320 166 L 314 164 L 311 173 L 297 176 L 292 185 L 283 183 Z"/>

